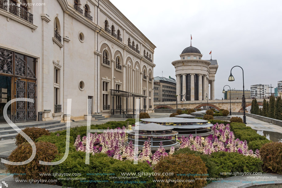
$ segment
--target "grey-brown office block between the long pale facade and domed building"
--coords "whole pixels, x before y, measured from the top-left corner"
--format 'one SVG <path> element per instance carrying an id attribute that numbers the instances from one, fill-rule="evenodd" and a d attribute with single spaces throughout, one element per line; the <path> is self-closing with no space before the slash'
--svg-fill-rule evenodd
<path id="1" fill-rule="evenodd" d="M 176 101 L 175 79 L 165 77 L 154 78 L 154 102 Z"/>

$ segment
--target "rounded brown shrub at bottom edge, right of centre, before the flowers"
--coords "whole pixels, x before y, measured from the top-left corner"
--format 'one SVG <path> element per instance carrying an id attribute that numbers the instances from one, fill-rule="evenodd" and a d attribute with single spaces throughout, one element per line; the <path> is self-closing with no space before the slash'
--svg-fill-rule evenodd
<path id="1" fill-rule="evenodd" d="M 160 162 L 155 166 L 155 172 L 166 173 L 173 172 L 173 175 L 162 176 L 157 175 L 157 180 L 194 180 L 194 182 L 157 182 L 157 187 L 195 187 L 202 188 L 206 185 L 206 181 L 195 178 L 206 178 L 207 176 L 177 176 L 177 174 L 207 174 L 207 167 L 200 156 L 195 154 L 177 154 L 169 155 L 161 158 Z"/>

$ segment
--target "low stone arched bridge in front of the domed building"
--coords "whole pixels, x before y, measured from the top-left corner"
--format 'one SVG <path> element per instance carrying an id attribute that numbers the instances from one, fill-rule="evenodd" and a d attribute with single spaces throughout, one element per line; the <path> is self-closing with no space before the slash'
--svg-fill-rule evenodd
<path id="1" fill-rule="evenodd" d="M 258 104 L 262 106 L 264 99 L 256 99 Z M 269 99 L 265 99 L 269 102 Z M 195 109 L 201 108 L 202 106 L 207 106 L 207 100 L 203 101 L 181 101 L 177 102 L 177 106 L 180 109 Z M 231 111 L 232 112 L 240 112 L 243 110 L 242 108 L 242 99 L 231 99 Z M 246 99 L 246 107 L 252 105 L 252 99 Z M 217 110 L 223 108 L 226 110 L 230 109 L 230 100 L 209 100 L 209 106 L 215 108 Z M 157 108 L 168 108 L 168 109 L 176 109 L 176 101 L 173 102 L 154 102 L 154 109 Z"/>

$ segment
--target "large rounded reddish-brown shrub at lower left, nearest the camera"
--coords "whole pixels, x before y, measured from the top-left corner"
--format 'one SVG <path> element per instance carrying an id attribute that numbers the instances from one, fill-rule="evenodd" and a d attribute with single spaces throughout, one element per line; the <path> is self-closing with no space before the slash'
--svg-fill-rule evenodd
<path id="1" fill-rule="evenodd" d="M 40 176 L 39 173 L 51 173 L 49 165 L 40 165 L 39 161 L 51 162 L 58 154 L 55 144 L 49 142 L 35 142 L 36 154 L 34 159 L 26 165 L 6 165 L 12 174 L 25 173 L 26 175 L 14 175 L 19 179 L 54 179 L 53 176 Z M 32 147 L 28 142 L 19 145 L 9 156 L 11 162 L 23 162 L 30 158 Z M 55 184 L 55 183 L 50 183 Z"/>

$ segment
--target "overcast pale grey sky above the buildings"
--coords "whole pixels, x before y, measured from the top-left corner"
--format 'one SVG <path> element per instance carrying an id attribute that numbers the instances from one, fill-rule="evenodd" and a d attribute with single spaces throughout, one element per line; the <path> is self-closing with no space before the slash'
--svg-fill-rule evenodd
<path id="1" fill-rule="evenodd" d="M 235 67 L 234 82 L 228 82 L 230 69 L 242 66 L 245 89 L 250 85 L 272 84 L 282 80 L 282 1 L 268 0 L 110 0 L 157 48 L 154 76 L 172 76 L 171 62 L 182 50 L 198 48 L 203 59 L 217 59 L 215 97 L 223 97 L 224 85 L 243 89 L 242 70 Z M 227 87 L 225 87 L 227 90 Z M 274 92 L 274 88 L 272 89 Z"/>

